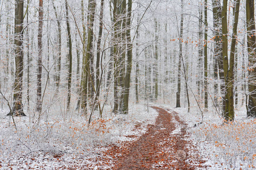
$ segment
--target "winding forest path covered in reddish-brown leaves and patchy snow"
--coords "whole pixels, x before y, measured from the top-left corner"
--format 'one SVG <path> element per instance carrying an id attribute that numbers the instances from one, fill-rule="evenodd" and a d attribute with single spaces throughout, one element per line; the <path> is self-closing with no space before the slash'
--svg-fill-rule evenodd
<path id="1" fill-rule="evenodd" d="M 127 147 L 113 147 L 113 169 L 196 169 L 202 167 L 198 151 L 185 124 L 175 111 L 152 106 L 158 111 L 155 125 L 149 124 L 147 132 Z"/>

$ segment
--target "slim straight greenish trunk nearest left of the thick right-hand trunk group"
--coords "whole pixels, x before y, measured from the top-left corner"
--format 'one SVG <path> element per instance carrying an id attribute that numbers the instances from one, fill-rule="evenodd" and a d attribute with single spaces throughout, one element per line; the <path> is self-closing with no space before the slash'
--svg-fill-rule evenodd
<path id="1" fill-rule="evenodd" d="M 208 108 L 208 80 L 207 80 L 207 0 L 204 0 L 204 108 Z"/>

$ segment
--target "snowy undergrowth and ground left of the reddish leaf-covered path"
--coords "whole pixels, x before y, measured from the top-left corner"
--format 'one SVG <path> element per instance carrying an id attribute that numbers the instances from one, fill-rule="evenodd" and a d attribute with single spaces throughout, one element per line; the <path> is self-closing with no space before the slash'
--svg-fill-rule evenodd
<path id="1" fill-rule="evenodd" d="M 18 131 L 12 119 L 5 116 L 7 110 L 1 110 L 0 169 L 65 169 L 72 164 L 73 168 L 94 168 L 95 159 L 109 144 L 134 140 L 131 136 L 139 137 L 146 132 L 147 124 L 154 124 L 157 111 L 148 109 L 131 105 L 129 114 L 115 115 L 106 106 L 103 118 L 94 112 L 90 126 L 89 116 L 71 114 L 69 119 L 60 119 L 58 111 L 49 113 L 47 121 L 43 118 L 39 124 L 29 122 L 28 117 L 15 117 Z"/>

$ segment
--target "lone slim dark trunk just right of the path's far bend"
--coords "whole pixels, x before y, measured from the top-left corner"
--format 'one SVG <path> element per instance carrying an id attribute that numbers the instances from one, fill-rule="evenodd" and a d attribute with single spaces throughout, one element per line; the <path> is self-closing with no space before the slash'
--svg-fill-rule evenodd
<path id="1" fill-rule="evenodd" d="M 178 59 L 178 79 L 177 79 L 177 93 L 176 93 L 176 107 L 180 107 L 180 91 L 181 91 L 181 59 L 182 59 L 182 36 L 183 36 L 183 0 L 181 0 L 181 19 L 180 19 L 180 35 L 179 35 L 179 59 Z"/>

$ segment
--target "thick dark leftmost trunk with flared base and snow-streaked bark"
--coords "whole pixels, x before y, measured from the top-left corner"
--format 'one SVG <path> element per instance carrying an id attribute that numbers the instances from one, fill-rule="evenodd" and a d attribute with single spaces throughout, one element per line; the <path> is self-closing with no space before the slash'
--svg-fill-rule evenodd
<path id="1" fill-rule="evenodd" d="M 15 80 L 14 80 L 14 105 L 12 111 L 7 114 L 14 116 L 26 116 L 23 112 L 22 104 L 22 79 L 23 79 L 23 0 L 15 1 L 15 19 L 14 19 L 14 33 L 15 33 Z"/>

